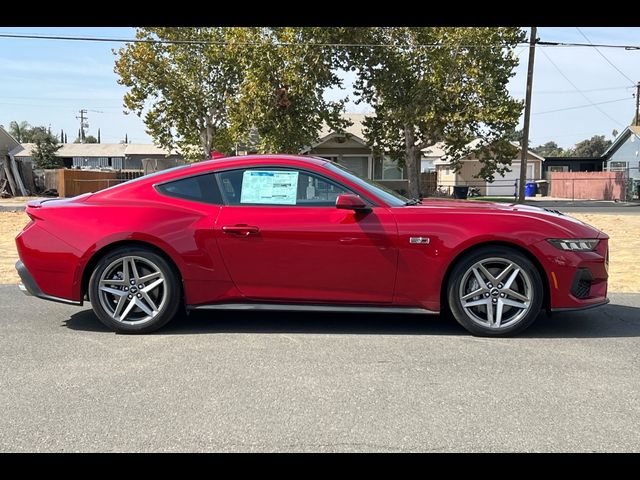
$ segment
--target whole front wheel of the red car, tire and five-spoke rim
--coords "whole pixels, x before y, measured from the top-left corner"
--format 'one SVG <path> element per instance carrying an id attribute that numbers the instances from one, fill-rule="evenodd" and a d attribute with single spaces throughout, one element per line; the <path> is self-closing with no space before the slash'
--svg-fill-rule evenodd
<path id="1" fill-rule="evenodd" d="M 483 247 L 462 257 L 447 285 L 453 317 L 482 337 L 524 331 L 540 314 L 543 296 L 538 269 L 517 250 L 502 246 Z"/>

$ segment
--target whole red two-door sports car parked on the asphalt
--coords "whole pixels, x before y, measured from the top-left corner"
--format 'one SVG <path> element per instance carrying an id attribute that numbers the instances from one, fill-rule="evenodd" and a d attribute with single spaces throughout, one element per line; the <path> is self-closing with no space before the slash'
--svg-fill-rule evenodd
<path id="1" fill-rule="evenodd" d="M 118 332 L 187 310 L 446 312 L 509 335 L 607 300 L 608 236 L 523 205 L 407 200 L 321 158 L 223 158 L 30 202 L 22 289 Z"/>

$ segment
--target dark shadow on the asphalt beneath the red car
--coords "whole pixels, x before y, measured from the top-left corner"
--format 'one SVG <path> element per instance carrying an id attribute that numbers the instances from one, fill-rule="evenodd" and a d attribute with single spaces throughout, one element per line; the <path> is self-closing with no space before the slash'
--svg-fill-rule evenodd
<path id="1" fill-rule="evenodd" d="M 63 326 L 72 330 L 110 332 L 92 310 L 74 313 Z M 468 335 L 441 316 L 208 311 L 180 314 L 154 335 L 216 333 L 308 333 L 362 335 Z M 522 338 L 640 337 L 640 308 L 607 305 L 584 312 L 542 314 Z"/>

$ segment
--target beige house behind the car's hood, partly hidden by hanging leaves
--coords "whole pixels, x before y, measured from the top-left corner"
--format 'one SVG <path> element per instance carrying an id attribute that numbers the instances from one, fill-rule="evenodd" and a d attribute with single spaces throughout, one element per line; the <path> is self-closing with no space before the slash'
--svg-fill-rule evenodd
<path id="1" fill-rule="evenodd" d="M 451 193 L 454 186 L 470 186 L 478 187 L 480 195 L 488 196 L 513 196 L 516 192 L 516 182 L 520 179 L 520 146 L 516 142 L 511 142 L 518 149 L 517 154 L 511 160 L 510 172 L 505 173 L 504 177 L 495 175 L 493 182 L 487 182 L 482 178 L 476 178 L 475 175 L 480 173 L 482 163 L 478 160 L 476 153 L 480 146 L 480 140 L 476 139 L 467 144 L 467 148 L 471 151 L 462 159 L 462 168 L 458 172 L 453 171 L 451 161 L 442 155 L 436 160 L 435 167 L 438 174 L 438 187 L 445 189 Z M 444 144 L 436 144 L 440 151 L 444 151 Z M 544 158 L 535 154 L 531 150 L 527 153 L 527 181 L 539 180 L 542 178 L 542 164 Z"/>

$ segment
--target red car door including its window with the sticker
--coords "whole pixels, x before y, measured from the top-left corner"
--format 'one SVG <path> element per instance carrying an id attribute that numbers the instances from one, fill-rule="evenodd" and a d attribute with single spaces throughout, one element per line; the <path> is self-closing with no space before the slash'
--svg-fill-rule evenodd
<path id="1" fill-rule="evenodd" d="M 255 300 L 390 303 L 398 251 L 386 207 L 363 213 L 335 207 L 353 193 L 295 168 L 221 172 L 225 198 L 215 229 L 225 265 Z"/>

